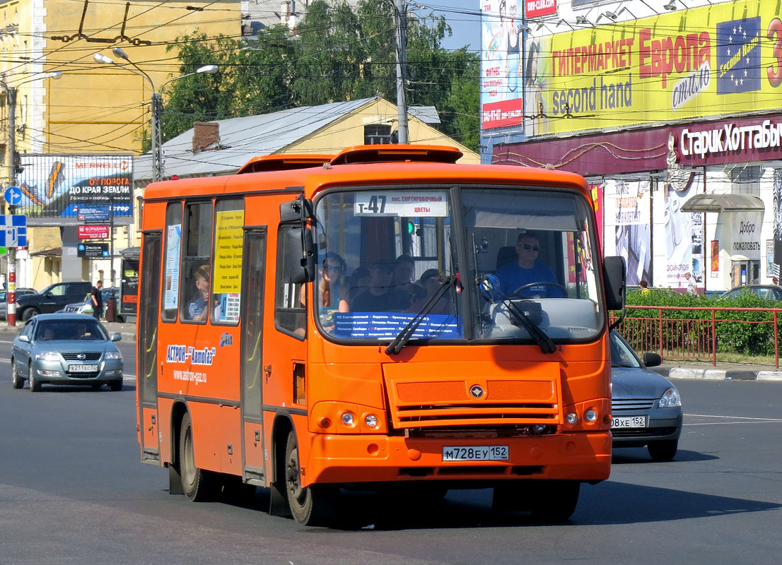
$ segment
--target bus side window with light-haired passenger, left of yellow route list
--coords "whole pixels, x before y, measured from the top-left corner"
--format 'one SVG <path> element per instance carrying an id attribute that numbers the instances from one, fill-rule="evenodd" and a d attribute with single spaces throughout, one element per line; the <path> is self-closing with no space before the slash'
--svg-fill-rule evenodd
<path id="1" fill-rule="evenodd" d="M 209 319 L 212 245 L 212 202 L 185 205 L 185 230 L 182 234 L 182 273 L 180 318 L 205 322 Z"/>

